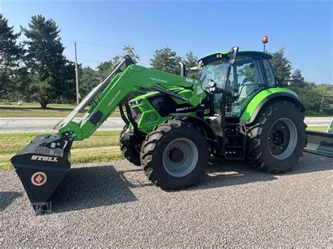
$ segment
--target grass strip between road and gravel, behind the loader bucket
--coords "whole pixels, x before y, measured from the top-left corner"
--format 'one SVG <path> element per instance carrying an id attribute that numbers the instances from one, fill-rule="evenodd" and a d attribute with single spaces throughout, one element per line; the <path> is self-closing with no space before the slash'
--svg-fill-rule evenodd
<path id="1" fill-rule="evenodd" d="M 72 163 L 90 163 L 121 159 L 118 130 L 97 131 L 84 141 L 74 142 L 71 149 Z M 0 168 L 12 168 L 9 159 L 25 144 L 43 133 L 0 133 Z"/>

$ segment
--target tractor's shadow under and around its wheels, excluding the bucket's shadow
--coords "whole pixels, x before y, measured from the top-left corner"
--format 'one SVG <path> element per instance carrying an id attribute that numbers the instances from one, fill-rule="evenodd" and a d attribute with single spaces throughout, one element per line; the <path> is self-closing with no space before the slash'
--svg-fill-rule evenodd
<path id="1" fill-rule="evenodd" d="M 311 163 L 316 162 L 316 163 Z M 318 163 L 317 163 L 318 162 Z M 119 171 L 119 175 L 124 179 L 126 185 L 131 189 L 140 187 L 154 187 L 152 183 L 145 177 L 140 167 L 129 166 L 130 169 Z M 264 173 L 260 170 L 252 168 L 249 161 L 245 160 L 225 160 L 211 158 L 204 177 L 200 182 L 188 189 L 169 190 L 172 191 L 195 191 L 200 189 L 210 189 L 219 187 L 228 187 L 240 184 L 248 184 L 252 182 L 267 182 L 278 180 L 283 175 L 296 175 L 304 173 L 314 173 L 324 170 L 333 169 L 333 159 L 324 156 L 316 156 L 313 154 L 304 154 L 299 159 L 299 164 L 294 166 L 292 170 L 284 173 Z"/>

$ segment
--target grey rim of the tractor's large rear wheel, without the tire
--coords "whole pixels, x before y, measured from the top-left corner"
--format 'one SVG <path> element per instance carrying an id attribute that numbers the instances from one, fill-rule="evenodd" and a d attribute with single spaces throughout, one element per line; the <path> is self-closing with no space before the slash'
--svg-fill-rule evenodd
<path id="1" fill-rule="evenodd" d="M 268 133 L 268 149 L 275 159 L 287 159 L 297 143 L 297 129 L 293 121 L 287 118 L 278 119 Z"/>

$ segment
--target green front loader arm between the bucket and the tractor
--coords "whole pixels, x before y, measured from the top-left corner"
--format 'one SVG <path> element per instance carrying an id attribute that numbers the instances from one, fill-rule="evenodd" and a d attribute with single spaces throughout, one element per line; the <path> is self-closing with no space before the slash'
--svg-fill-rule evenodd
<path id="1" fill-rule="evenodd" d="M 169 90 L 179 87 L 191 88 L 192 96 L 185 97 Z M 188 101 L 192 106 L 199 105 L 206 96 L 200 81 L 139 65 L 129 65 L 124 72 L 116 74 L 99 95 L 97 93 L 89 101 L 93 102 L 93 105 L 81 121 L 75 123 L 72 121 L 75 115 L 70 114 L 70 119 L 67 118 L 60 124 L 59 137 L 70 136 L 74 140 L 84 140 L 90 137 L 129 93 L 137 92 L 140 88 L 169 94 L 171 97 Z M 80 109 L 83 110 L 86 105 L 89 105 L 89 102 L 81 105 Z M 73 112 L 78 113 L 75 110 Z"/>

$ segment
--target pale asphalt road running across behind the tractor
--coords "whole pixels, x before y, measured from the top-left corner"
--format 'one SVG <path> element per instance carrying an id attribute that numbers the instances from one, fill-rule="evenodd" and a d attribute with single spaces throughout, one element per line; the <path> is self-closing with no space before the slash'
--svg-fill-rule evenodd
<path id="1" fill-rule="evenodd" d="M 1 118 L 0 133 L 55 131 L 57 130 L 55 125 L 62 120 L 62 118 Z M 308 126 L 328 126 L 331 118 L 306 118 L 305 121 Z M 110 118 L 100 126 L 99 130 L 120 130 L 123 126 L 122 119 Z"/>

